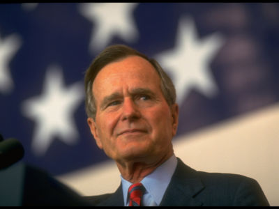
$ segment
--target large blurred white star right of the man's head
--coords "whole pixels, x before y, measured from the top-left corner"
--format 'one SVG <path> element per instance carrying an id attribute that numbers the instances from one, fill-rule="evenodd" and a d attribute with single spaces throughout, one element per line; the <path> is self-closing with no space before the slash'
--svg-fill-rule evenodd
<path id="1" fill-rule="evenodd" d="M 209 64 L 223 44 L 223 38 L 213 34 L 199 40 L 190 17 L 181 18 L 177 34 L 175 48 L 157 55 L 159 63 L 172 76 L 177 102 L 181 104 L 191 88 L 197 88 L 207 96 L 214 95 L 218 88 Z"/>

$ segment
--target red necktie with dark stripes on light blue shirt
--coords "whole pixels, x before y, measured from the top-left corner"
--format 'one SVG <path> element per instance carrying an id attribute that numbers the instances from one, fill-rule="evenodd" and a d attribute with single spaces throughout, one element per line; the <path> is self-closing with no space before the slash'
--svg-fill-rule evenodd
<path id="1" fill-rule="evenodd" d="M 141 206 L 142 194 L 144 194 L 144 186 L 142 183 L 130 185 L 128 189 L 129 206 Z"/>

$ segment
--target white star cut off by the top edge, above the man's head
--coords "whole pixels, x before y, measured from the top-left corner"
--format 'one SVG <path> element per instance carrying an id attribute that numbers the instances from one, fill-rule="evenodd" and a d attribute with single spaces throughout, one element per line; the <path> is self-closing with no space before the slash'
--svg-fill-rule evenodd
<path id="1" fill-rule="evenodd" d="M 133 10 L 138 3 L 83 3 L 80 11 L 84 17 L 93 22 L 91 52 L 98 52 L 112 40 L 120 36 L 126 42 L 138 38 L 135 28 Z"/>

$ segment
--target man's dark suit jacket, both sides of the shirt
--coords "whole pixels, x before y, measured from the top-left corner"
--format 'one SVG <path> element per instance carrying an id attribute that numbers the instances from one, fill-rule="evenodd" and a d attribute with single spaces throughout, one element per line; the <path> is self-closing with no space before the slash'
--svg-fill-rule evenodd
<path id="1" fill-rule="evenodd" d="M 122 186 L 112 194 L 86 196 L 94 206 L 123 206 Z M 178 158 L 160 206 L 269 206 L 256 180 L 230 173 L 195 171 Z"/>

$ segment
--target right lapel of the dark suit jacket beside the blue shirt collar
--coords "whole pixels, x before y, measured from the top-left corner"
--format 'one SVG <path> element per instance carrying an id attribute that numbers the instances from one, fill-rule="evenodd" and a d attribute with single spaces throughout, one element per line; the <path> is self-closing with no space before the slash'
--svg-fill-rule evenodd
<path id="1" fill-rule="evenodd" d="M 167 187 L 160 206 L 201 206 L 194 196 L 204 188 L 194 169 L 186 166 L 179 158 L 172 180 Z"/>

